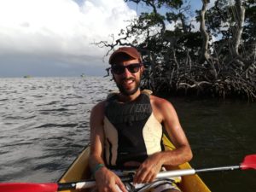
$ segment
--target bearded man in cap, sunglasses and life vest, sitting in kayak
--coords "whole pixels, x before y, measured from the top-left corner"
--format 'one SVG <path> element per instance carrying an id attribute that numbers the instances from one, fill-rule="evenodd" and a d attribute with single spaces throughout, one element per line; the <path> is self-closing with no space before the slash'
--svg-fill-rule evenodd
<path id="1" fill-rule="evenodd" d="M 98 191 L 126 192 L 128 184 L 122 183 L 114 170 L 135 168 L 133 184 L 147 186 L 163 166 L 187 162 L 192 152 L 172 104 L 139 89 L 144 67 L 137 49 L 119 48 L 109 63 L 119 93 L 91 111 L 89 164 Z M 162 151 L 162 125 L 175 150 Z M 178 191 L 172 184 L 167 189 Z"/>

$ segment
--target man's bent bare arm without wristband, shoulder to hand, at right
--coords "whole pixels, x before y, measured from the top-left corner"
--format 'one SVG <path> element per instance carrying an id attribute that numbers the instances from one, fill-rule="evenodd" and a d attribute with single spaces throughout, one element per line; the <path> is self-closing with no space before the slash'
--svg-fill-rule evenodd
<path id="1" fill-rule="evenodd" d="M 176 147 L 172 151 L 152 154 L 141 164 L 134 177 L 134 183 L 148 183 L 154 180 L 163 165 L 177 166 L 191 160 L 192 152 L 187 137 L 177 118 L 177 113 L 170 102 L 152 96 L 153 113 L 162 123 L 172 143 Z"/>

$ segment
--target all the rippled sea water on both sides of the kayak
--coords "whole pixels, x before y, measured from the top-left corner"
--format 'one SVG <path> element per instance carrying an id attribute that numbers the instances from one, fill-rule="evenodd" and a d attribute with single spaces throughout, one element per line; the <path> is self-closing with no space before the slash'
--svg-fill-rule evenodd
<path id="1" fill-rule="evenodd" d="M 109 78 L 0 79 L 0 182 L 55 182 L 89 143 L 91 108 Z M 256 154 L 256 104 L 170 98 L 196 168 Z M 255 171 L 202 173 L 212 191 L 256 191 Z"/>

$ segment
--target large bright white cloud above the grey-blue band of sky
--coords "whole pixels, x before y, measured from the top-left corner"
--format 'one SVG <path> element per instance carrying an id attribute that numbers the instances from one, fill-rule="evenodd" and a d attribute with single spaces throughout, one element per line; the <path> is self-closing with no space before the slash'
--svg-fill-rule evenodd
<path id="1" fill-rule="evenodd" d="M 92 43 L 109 40 L 136 16 L 123 0 L 0 0 L 0 59 L 101 63 L 107 49 Z"/>

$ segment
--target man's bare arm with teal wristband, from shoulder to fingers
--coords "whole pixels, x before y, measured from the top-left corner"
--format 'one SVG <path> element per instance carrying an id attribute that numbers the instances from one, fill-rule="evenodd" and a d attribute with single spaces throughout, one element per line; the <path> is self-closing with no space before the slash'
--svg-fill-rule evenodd
<path id="1" fill-rule="evenodd" d="M 102 192 L 117 192 L 117 187 L 122 191 L 126 191 L 125 185 L 121 182 L 118 176 L 111 172 L 106 166 L 99 167 L 98 164 L 104 165 L 103 149 L 104 149 L 104 105 L 105 102 L 98 103 L 90 113 L 90 170 L 96 178 L 96 187 Z"/>

